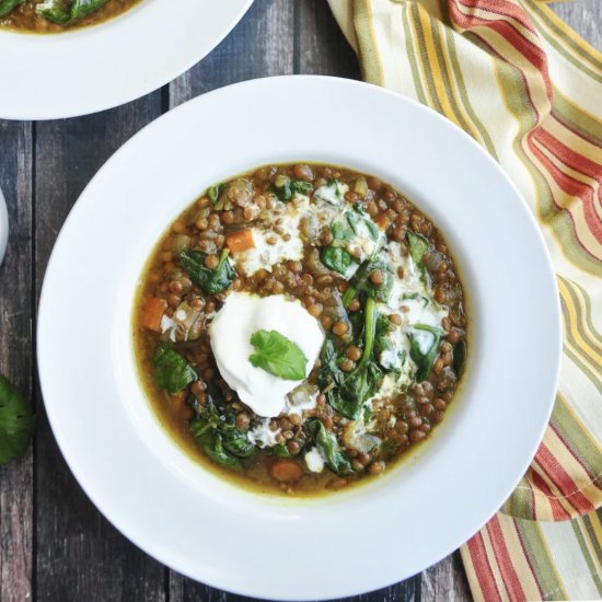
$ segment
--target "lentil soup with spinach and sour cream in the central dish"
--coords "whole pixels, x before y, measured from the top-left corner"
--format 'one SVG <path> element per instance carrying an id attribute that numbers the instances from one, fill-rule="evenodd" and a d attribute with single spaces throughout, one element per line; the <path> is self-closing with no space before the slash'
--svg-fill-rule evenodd
<path id="1" fill-rule="evenodd" d="M 306 496 L 386 471 L 444 418 L 466 359 L 441 232 L 389 184 L 317 164 L 211 186 L 141 278 L 134 345 L 196 460 Z"/>

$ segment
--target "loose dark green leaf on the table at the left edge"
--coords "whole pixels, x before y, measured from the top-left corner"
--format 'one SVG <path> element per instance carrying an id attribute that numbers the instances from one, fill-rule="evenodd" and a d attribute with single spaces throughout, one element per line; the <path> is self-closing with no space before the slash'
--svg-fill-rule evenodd
<path id="1" fill-rule="evenodd" d="M 35 416 L 25 398 L 0 374 L 0 464 L 25 453 L 34 426 Z"/>

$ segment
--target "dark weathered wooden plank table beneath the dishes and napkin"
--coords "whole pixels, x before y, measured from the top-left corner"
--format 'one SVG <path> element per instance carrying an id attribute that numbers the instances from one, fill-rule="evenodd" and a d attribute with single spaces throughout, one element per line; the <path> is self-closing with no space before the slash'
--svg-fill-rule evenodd
<path id="1" fill-rule="evenodd" d="M 555 10 L 602 48 L 600 0 L 557 4 Z M 34 333 L 39 290 L 57 234 L 106 159 L 140 128 L 194 96 L 285 73 L 359 79 L 356 57 L 324 0 L 256 0 L 205 60 L 170 85 L 125 106 L 77 119 L 0 121 L 0 187 L 11 221 L 9 252 L 0 267 L 0 372 L 33 400 L 39 417 L 26 456 L 0 467 L 0 602 L 243 600 L 151 559 L 85 497 L 44 415 Z M 109 240 L 111 232 L 100 232 L 93 243 Z M 93 417 L 84 428 L 94 428 Z M 455 553 L 421 575 L 354 600 L 470 598 Z"/>

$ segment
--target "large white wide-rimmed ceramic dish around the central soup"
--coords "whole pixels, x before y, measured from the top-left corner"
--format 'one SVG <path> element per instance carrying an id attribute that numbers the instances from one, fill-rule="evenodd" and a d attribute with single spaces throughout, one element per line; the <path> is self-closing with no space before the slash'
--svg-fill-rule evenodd
<path id="1" fill-rule="evenodd" d="M 130 325 L 143 263 L 181 210 L 215 182 L 299 160 L 377 174 L 424 208 L 455 250 L 473 334 L 464 390 L 429 445 L 370 485 L 304 501 L 239 489 L 180 451 L 143 397 Z M 99 231 L 111 244 L 91 242 Z M 221 89 L 135 136 L 73 208 L 39 310 L 48 417 L 99 509 L 178 571 L 276 600 L 381 588 L 473 535 L 535 453 L 559 352 L 544 243 L 497 164 L 421 105 L 317 77 Z"/>

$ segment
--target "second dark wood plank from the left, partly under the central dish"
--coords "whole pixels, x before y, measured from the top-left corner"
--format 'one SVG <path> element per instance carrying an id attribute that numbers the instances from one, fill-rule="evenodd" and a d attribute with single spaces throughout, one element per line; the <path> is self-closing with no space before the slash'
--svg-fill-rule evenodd
<path id="1" fill-rule="evenodd" d="M 158 92 L 114 111 L 36 126 L 37 293 L 56 236 L 85 184 L 118 147 L 160 114 Z M 111 232 L 99 232 L 97 239 L 90 243 L 111 244 Z M 79 291 L 77 286 L 73 302 L 85 302 L 85 291 Z M 47 419 L 40 414 L 36 448 L 35 599 L 163 601 L 164 567 L 142 554 L 94 508 L 67 467 Z M 94 428 L 92 417 L 82 428 Z"/>

